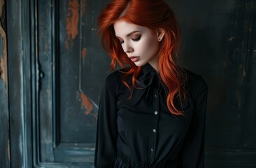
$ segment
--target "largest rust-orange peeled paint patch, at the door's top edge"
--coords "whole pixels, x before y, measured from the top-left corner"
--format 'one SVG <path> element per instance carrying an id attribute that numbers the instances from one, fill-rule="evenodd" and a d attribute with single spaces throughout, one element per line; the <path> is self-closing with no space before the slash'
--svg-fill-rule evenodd
<path id="1" fill-rule="evenodd" d="M 73 44 L 78 35 L 79 3 L 78 0 L 69 0 L 68 13 L 66 16 L 66 49 Z"/>

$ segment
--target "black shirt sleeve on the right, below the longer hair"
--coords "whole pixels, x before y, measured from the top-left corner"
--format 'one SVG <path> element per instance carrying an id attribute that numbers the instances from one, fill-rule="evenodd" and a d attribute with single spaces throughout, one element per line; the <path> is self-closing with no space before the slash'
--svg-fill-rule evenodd
<path id="1" fill-rule="evenodd" d="M 180 164 L 183 168 L 204 167 L 204 133 L 208 92 L 204 79 L 199 80 L 197 88 L 199 91 L 195 95 L 194 114 L 181 151 Z"/>

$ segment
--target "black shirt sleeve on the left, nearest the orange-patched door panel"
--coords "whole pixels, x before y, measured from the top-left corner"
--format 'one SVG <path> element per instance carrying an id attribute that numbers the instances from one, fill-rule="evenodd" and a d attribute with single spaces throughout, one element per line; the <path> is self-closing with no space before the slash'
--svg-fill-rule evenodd
<path id="1" fill-rule="evenodd" d="M 114 167 L 116 160 L 117 112 L 114 74 L 109 75 L 101 90 L 97 120 L 95 167 Z"/>

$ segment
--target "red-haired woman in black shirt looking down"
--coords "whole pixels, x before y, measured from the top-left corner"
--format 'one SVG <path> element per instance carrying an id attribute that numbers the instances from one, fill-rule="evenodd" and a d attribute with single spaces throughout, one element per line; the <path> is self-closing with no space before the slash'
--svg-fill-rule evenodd
<path id="1" fill-rule="evenodd" d="M 207 85 L 177 64 L 179 29 L 162 0 L 114 0 L 99 16 L 111 67 L 95 167 L 204 167 Z"/>

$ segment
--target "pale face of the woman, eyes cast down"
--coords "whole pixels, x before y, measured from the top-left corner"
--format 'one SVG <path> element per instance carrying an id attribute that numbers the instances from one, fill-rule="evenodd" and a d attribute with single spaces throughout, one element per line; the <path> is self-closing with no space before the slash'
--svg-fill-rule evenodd
<path id="1" fill-rule="evenodd" d="M 157 31 L 154 32 L 148 27 L 134 25 L 123 20 L 118 20 L 113 26 L 115 36 L 119 39 L 127 57 L 136 66 L 143 66 L 149 63 L 156 69 L 159 45 Z"/>

